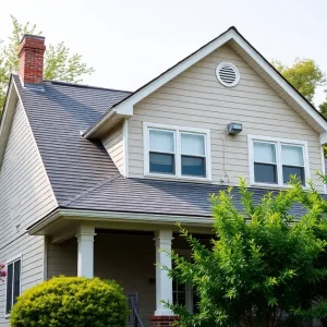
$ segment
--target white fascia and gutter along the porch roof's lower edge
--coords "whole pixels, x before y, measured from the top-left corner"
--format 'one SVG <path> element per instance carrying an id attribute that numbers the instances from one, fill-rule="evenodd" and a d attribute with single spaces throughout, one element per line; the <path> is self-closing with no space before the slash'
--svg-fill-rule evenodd
<path id="1" fill-rule="evenodd" d="M 36 235 L 44 228 L 58 221 L 59 219 L 88 220 L 88 221 L 112 221 L 112 222 L 138 222 L 138 223 L 175 223 L 177 221 L 208 227 L 213 225 L 213 218 L 199 216 L 179 216 L 179 215 L 157 215 L 157 214 L 138 214 L 122 211 L 97 211 L 83 209 L 58 209 L 28 229 L 29 235 Z"/>

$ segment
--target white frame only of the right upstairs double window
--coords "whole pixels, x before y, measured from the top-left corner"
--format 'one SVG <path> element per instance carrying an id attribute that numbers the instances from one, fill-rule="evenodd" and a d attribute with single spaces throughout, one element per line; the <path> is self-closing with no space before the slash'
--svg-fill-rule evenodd
<path id="1" fill-rule="evenodd" d="M 277 184 L 255 182 L 255 179 L 254 179 L 254 149 L 253 149 L 253 143 L 255 141 L 268 142 L 268 143 L 276 144 Z M 249 168 L 250 168 L 250 184 L 251 185 L 267 186 L 267 187 L 274 187 L 274 186 L 275 187 L 290 187 L 290 185 L 283 183 L 281 145 L 302 146 L 304 174 L 305 174 L 305 186 L 304 187 L 308 186 L 307 181 L 310 180 L 311 177 L 310 177 L 310 162 L 308 162 L 308 152 L 307 152 L 307 142 L 306 141 L 247 134 Z"/>

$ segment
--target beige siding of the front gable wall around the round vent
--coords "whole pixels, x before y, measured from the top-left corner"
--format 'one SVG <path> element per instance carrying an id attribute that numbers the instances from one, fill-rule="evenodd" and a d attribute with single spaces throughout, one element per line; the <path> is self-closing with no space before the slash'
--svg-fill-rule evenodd
<path id="1" fill-rule="evenodd" d="M 216 78 L 216 66 L 229 61 L 240 70 L 235 87 Z M 222 136 L 230 122 L 243 124 L 238 136 L 227 136 L 226 166 L 231 184 L 249 181 L 247 134 L 307 141 L 311 178 L 320 192 L 319 136 L 242 58 L 221 47 L 134 106 L 129 120 L 129 174 L 144 177 L 143 122 L 208 129 L 211 133 L 213 182 L 219 184 L 223 169 Z"/>

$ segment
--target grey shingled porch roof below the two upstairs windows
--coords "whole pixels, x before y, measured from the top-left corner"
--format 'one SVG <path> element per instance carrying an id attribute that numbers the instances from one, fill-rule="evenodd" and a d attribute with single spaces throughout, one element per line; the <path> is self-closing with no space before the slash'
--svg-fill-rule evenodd
<path id="1" fill-rule="evenodd" d="M 210 195 L 227 187 L 180 181 L 125 179 L 117 174 L 75 198 L 62 203 L 61 207 L 207 218 L 211 216 Z M 258 203 L 269 191 L 271 190 L 251 189 L 254 202 Z M 242 210 L 239 187 L 233 187 L 232 194 L 235 207 Z M 290 214 L 300 217 L 305 214 L 305 209 L 296 205 Z"/>

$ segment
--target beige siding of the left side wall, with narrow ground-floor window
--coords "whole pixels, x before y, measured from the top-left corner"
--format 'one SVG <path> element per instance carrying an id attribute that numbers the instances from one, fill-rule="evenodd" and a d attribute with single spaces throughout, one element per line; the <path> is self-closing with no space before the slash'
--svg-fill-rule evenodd
<path id="1" fill-rule="evenodd" d="M 19 102 L 0 172 L 0 262 L 22 254 L 22 291 L 44 280 L 44 238 L 26 228 L 57 206 L 26 113 Z M 0 326 L 5 283 L 0 282 Z"/>

